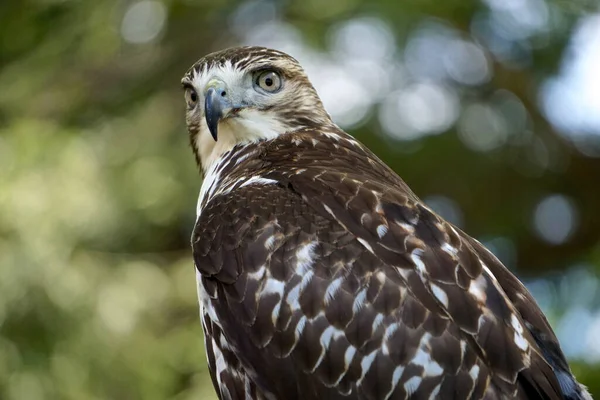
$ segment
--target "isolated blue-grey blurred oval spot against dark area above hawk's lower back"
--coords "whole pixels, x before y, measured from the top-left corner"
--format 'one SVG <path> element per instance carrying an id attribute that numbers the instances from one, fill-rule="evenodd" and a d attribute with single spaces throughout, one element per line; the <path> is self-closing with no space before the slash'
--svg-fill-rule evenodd
<path id="1" fill-rule="evenodd" d="M 538 203 L 533 223 L 541 239 L 553 245 L 562 244 L 575 231 L 577 210 L 570 199 L 554 194 Z"/>

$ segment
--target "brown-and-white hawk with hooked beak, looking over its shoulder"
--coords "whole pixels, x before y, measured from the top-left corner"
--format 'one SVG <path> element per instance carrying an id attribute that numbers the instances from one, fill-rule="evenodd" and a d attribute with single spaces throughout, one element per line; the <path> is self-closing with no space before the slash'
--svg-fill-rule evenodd
<path id="1" fill-rule="evenodd" d="M 182 79 L 220 399 L 591 399 L 523 284 L 262 47 Z"/>

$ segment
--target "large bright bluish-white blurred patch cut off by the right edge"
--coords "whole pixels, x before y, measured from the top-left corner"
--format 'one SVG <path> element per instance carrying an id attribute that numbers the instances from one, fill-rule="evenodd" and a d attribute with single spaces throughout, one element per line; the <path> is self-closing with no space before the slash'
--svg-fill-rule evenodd
<path id="1" fill-rule="evenodd" d="M 600 156 L 600 14 L 576 28 L 558 77 L 542 87 L 548 119 L 586 155 Z"/>

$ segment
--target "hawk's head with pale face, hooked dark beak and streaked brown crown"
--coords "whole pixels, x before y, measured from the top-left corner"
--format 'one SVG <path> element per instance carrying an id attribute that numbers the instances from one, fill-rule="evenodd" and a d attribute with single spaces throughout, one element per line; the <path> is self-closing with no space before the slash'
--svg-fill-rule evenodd
<path id="1" fill-rule="evenodd" d="M 298 61 L 264 47 L 201 58 L 181 80 L 187 125 L 204 170 L 238 143 L 331 124 Z"/>

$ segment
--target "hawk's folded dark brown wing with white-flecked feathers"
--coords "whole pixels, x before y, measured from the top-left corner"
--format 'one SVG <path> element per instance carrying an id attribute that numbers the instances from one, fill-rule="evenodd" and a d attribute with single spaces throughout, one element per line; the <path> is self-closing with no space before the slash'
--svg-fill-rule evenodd
<path id="1" fill-rule="evenodd" d="M 476 241 L 387 178 L 269 171 L 194 230 L 222 398 L 562 398 L 552 331 Z"/>

